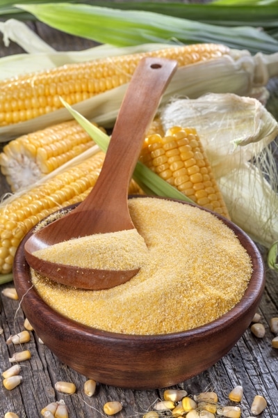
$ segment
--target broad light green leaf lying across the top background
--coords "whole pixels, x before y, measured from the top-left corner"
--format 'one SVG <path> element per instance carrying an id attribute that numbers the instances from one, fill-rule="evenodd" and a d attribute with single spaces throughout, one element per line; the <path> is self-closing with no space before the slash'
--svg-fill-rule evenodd
<path id="1" fill-rule="evenodd" d="M 277 52 L 278 42 L 251 26 L 229 28 L 142 10 L 118 10 L 86 4 L 17 4 L 60 31 L 116 46 L 145 42 L 191 44 L 220 42 L 251 53 Z"/>

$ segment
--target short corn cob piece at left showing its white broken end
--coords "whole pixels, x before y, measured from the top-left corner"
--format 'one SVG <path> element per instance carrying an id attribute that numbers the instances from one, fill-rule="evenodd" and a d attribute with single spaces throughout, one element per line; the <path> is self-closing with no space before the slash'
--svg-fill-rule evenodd
<path id="1" fill-rule="evenodd" d="M 4 146 L 0 153 L 1 173 L 6 176 L 11 190 L 16 192 L 94 144 L 76 121 L 58 123 L 23 135 Z"/>

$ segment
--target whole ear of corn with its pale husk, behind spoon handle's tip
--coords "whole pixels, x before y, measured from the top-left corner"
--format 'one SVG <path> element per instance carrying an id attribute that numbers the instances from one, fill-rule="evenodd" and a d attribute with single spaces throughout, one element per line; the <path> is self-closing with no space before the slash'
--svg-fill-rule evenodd
<path id="1" fill-rule="evenodd" d="M 258 89 L 261 91 L 260 86 L 265 86 L 270 77 L 277 75 L 278 68 L 278 53 L 270 56 L 264 56 L 263 54 L 251 56 L 247 50 L 238 51 L 223 45 L 197 44 L 173 48 L 170 45 L 167 47 L 165 44 L 147 44 L 122 49 L 107 47 L 107 45 L 103 45 L 103 47 L 103 49 L 96 48 L 96 52 L 92 50 L 92 58 L 89 58 L 92 61 L 88 64 L 81 63 L 81 56 L 72 56 L 72 53 L 68 54 L 68 61 L 71 63 L 69 65 L 65 64 L 54 68 L 53 64 L 51 65 L 52 61 L 51 63 L 43 62 L 42 64 L 48 70 L 33 73 L 35 75 L 33 84 L 31 79 L 28 80 L 28 75 L 19 77 L 16 72 L 16 75 L 13 77 L 14 80 L 9 80 L 11 83 L 8 90 L 4 87 L 7 80 L 1 77 L 0 70 L 0 78 L 3 79 L 0 82 L 3 99 L 7 98 L 5 103 L 1 102 L 0 98 L 0 141 L 8 141 L 33 130 L 39 130 L 54 123 L 68 120 L 70 118 L 69 114 L 63 108 L 60 97 L 63 97 L 70 104 L 75 103 L 75 109 L 85 117 L 93 119 L 99 125 L 112 127 L 128 81 L 131 78 L 133 67 L 136 65 L 136 60 L 142 56 L 179 58 L 180 66 L 172 82 L 167 87 L 161 103 L 167 102 L 174 95 L 197 98 L 204 93 L 208 93 L 208 91 L 215 93 L 230 92 L 246 96 L 252 95 L 255 88 L 255 94 L 258 94 Z M 57 53 L 55 61 L 67 62 L 66 55 L 65 53 L 63 54 L 64 58 L 60 58 Z M 88 59 L 87 54 L 83 55 L 84 59 Z M 26 58 L 24 59 L 26 60 Z M 38 61 L 38 58 L 33 56 L 33 60 Z M 72 61 L 77 62 L 72 63 Z M 16 65 L 16 61 L 12 65 Z M 22 61 L 20 61 L 20 65 L 22 65 Z M 76 68 L 79 68 L 80 78 L 77 79 L 73 76 L 73 83 L 72 79 L 70 79 L 72 76 L 65 75 L 65 73 L 73 72 L 74 65 Z M 97 68 L 95 76 L 93 76 L 95 78 L 90 80 L 86 78 L 87 75 L 82 75 L 84 72 L 82 68 L 85 68 L 87 65 Z M 103 65 L 106 70 L 103 69 Z M 38 64 L 33 65 L 33 67 L 38 69 Z M 48 83 L 53 84 L 49 82 L 49 79 L 54 71 L 61 73 L 59 76 L 60 82 L 58 83 L 58 80 L 55 79 L 54 88 L 50 88 L 47 80 Z M 40 83 L 39 75 L 42 78 L 42 84 L 36 86 L 35 83 Z M 65 80 L 65 77 L 69 77 L 69 79 Z M 19 84 L 22 83 L 22 88 L 20 93 L 18 93 L 20 97 L 17 97 L 16 89 L 13 87 L 17 79 Z M 111 80 L 113 81 L 111 82 Z M 28 87 L 28 84 L 32 88 Z M 90 91 L 88 88 L 89 84 Z M 96 84 L 96 86 L 104 86 L 106 84 L 108 90 L 106 89 L 103 92 L 103 87 L 97 87 L 97 90 L 95 90 L 95 87 L 92 88 L 91 84 Z M 22 96 L 26 95 L 27 90 L 28 95 L 31 95 L 30 98 L 22 98 Z M 265 89 L 263 88 L 264 91 Z M 35 96 L 33 96 L 34 92 Z M 15 100 L 13 100 L 12 106 L 10 98 L 14 93 Z M 45 93 L 48 94 L 47 99 Z M 39 102 L 41 104 L 38 104 Z M 56 107 L 54 109 L 54 102 L 58 109 Z M 47 109 L 48 113 L 45 113 L 45 109 Z M 13 112 L 15 113 L 13 114 Z M 26 119 L 27 114 L 28 118 Z"/>

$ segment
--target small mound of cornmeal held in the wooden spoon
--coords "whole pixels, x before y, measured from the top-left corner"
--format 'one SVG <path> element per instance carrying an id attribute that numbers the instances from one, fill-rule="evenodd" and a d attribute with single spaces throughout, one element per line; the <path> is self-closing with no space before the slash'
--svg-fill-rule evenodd
<path id="1" fill-rule="evenodd" d="M 96 233 L 34 251 L 41 260 L 104 270 L 132 270 L 147 261 L 148 249 L 136 229 Z"/>

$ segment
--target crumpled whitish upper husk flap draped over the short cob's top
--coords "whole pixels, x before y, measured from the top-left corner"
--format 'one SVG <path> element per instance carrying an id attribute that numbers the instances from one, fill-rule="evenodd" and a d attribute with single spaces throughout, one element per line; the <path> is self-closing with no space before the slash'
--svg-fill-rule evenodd
<path id="1" fill-rule="evenodd" d="M 259 100 L 233 93 L 173 99 L 160 116 L 165 130 L 173 124 L 197 129 L 215 178 L 259 155 L 278 134 L 278 122 Z"/>

